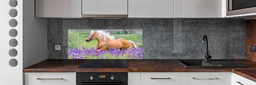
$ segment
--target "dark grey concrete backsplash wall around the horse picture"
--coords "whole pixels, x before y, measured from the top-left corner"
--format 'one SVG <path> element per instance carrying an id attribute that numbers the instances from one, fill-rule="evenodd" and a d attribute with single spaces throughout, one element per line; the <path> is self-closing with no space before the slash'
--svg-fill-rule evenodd
<path id="1" fill-rule="evenodd" d="M 207 35 L 212 59 L 245 59 L 243 19 L 48 19 L 48 59 L 67 59 L 67 29 L 143 29 L 143 59 L 204 59 Z"/>

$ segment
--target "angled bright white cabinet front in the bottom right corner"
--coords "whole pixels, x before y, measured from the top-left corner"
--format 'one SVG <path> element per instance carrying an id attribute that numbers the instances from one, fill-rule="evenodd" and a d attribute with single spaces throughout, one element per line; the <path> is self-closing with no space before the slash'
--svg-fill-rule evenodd
<path id="1" fill-rule="evenodd" d="M 233 73 L 233 85 L 256 85 L 256 82 Z"/>

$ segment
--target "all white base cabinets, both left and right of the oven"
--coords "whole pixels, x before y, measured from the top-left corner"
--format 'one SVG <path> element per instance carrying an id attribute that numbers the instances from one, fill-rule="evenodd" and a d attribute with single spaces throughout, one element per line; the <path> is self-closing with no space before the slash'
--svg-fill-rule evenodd
<path id="1" fill-rule="evenodd" d="M 76 85 L 75 72 L 24 73 L 24 85 Z M 256 85 L 230 72 L 129 72 L 128 85 Z"/>

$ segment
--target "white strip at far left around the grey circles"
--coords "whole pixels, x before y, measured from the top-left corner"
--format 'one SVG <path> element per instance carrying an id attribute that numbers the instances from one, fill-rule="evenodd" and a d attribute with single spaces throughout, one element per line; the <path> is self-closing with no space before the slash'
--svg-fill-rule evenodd
<path id="1" fill-rule="evenodd" d="M 22 0 L 17 0 L 18 4 L 16 7 L 9 6 L 9 0 L 0 0 L 0 85 L 22 85 L 23 84 L 23 40 L 22 40 Z M 16 17 L 9 16 L 9 10 L 15 8 L 17 10 Z M 9 20 L 16 19 L 17 26 L 11 27 L 9 26 Z M 9 36 L 9 30 L 15 28 L 18 33 L 16 37 Z M 10 39 L 16 39 L 18 41 L 17 46 L 11 47 L 9 45 Z M 11 48 L 15 48 L 17 50 L 17 56 L 11 57 L 9 56 L 9 50 Z M 11 67 L 9 65 L 10 59 L 17 60 L 17 66 Z"/>

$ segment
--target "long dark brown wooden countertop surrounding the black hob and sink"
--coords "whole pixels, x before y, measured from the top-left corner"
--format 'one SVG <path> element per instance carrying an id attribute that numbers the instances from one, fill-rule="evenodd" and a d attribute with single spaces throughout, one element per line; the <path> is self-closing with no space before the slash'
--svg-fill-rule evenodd
<path id="1" fill-rule="evenodd" d="M 248 68 L 185 68 L 175 59 L 129 59 L 128 68 L 78 68 L 83 59 L 47 59 L 23 69 L 23 72 L 232 72 L 232 69 L 256 69 L 256 62 L 230 61 Z"/>

